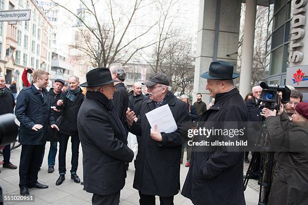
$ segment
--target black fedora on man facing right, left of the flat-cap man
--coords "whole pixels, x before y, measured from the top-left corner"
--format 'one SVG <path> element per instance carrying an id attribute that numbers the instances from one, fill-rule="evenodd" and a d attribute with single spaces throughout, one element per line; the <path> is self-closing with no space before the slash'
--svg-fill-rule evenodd
<path id="1" fill-rule="evenodd" d="M 98 67 L 86 74 L 87 82 L 81 84 L 81 87 L 96 87 L 103 86 L 113 82 L 120 82 L 112 79 L 109 69 L 105 67 Z"/>

